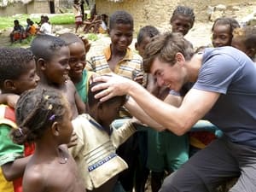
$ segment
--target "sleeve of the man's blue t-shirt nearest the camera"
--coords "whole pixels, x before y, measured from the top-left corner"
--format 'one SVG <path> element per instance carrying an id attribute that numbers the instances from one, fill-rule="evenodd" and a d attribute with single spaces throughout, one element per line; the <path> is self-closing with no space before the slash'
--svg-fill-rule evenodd
<path id="1" fill-rule="evenodd" d="M 213 55 L 203 61 L 193 88 L 226 94 L 240 69 L 241 65 L 230 55 Z"/>

